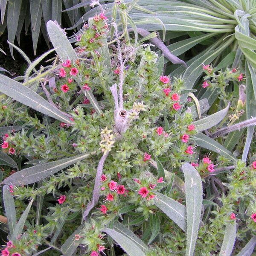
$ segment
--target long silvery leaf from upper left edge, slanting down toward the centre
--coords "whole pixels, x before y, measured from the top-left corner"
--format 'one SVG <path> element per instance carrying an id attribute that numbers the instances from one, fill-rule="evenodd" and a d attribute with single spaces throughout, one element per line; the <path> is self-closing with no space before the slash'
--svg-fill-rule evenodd
<path id="1" fill-rule="evenodd" d="M 47 100 L 39 96 L 33 90 L 2 74 L 0 74 L 0 92 L 47 116 L 51 116 L 62 122 L 71 122 L 67 116 L 50 105 Z"/>

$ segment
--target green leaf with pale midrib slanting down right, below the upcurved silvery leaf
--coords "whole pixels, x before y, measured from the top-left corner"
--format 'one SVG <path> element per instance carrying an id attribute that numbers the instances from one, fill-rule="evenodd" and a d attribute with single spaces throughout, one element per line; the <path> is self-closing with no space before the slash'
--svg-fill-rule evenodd
<path id="1" fill-rule="evenodd" d="M 202 148 L 207 148 L 236 162 L 237 158 L 230 151 L 224 148 L 224 146 L 222 146 L 220 143 L 213 140 L 212 138 L 200 132 L 196 135 L 193 135 L 192 138 L 195 140 L 196 145 L 199 145 Z"/>

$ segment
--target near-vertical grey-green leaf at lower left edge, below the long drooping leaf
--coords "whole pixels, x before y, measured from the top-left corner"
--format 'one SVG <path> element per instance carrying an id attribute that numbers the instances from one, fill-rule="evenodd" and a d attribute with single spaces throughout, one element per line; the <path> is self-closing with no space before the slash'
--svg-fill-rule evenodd
<path id="1" fill-rule="evenodd" d="M 3 186 L 3 205 L 6 213 L 10 235 L 13 234 L 17 224 L 14 199 L 8 186 Z"/>

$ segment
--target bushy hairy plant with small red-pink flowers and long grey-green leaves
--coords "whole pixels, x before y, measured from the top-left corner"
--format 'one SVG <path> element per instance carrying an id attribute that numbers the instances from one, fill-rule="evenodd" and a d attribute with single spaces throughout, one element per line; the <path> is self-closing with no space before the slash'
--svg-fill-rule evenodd
<path id="1" fill-rule="evenodd" d="M 126 6 L 116 2 L 125 29 Z M 256 162 L 194 157 L 201 113 L 184 100 L 182 78 L 164 76 L 151 44 L 123 40 L 118 28 L 113 22 L 108 42 L 102 10 L 73 50 L 50 21 L 52 65 L 30 66 L 23 84 L 0 76 L 1 91 L 16 100 L 3 96 L 0 108 L 9 127 L 1 154 L 12 167 L 3 177 L 9 235 L 2 255 L 115 255 L 115 243 L 129 255 L 210 255 L 222 250 L 228 224 L 242 227 L 241 247 L 254 234 Z"/>

